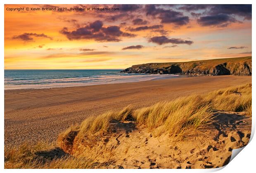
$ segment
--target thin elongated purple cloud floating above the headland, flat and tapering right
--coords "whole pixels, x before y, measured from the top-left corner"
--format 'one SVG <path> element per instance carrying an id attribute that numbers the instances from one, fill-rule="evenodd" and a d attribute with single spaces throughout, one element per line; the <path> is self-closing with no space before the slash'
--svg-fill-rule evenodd
<path id="1" fill-rule="evenodd" d="M 172 44 L 192 44 L 193 41 L 190 40 L 182 40 L 179 38 L 168 38 L 166 36 L 156 36 L 156 37 L 151 37 L 149 38 L 149 42 L 153 42 L 159 45 L 162 44 L 167 44 L 167 43 L 172 43 Z"/>

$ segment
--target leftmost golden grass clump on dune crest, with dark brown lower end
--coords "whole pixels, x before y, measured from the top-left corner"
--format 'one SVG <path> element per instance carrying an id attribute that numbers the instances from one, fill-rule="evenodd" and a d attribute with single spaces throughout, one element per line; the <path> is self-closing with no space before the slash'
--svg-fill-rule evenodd
<path id="1" fill-rule="evenodd" d="M 115 122 L 132 120 L 132 108 L 127 106 L 119 112 L 106 112 L 97 117 L 88 117 L 80 126 L 71 126 L 60 133 L 57 144 L 65 152 L 72 153 L 73 147 L 78 149 L 77 144 L 93 147 L 95 142 L 101 140 L 102 136 L 115 132 Z"/>

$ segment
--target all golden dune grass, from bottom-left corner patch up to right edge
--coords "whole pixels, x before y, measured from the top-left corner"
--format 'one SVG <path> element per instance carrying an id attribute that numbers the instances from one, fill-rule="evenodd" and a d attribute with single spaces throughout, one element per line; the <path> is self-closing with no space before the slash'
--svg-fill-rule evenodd
<path id="1" fill-rule="evenodd" d="M 106 112 L 88 117 L 80 125 L 71 126 L 59 134 L 57 145 L 73 154 L 81 148 L 90 149 L 102 137 L 116 133 L 118 122 L 133 122 L 137 129 L 152 131 L 154 136 L 168 134 L 174 140 L 183 140 L 196 131 L 203 131 L 215 119 L 213 111 L 248 112 L 251 116 L 251 84 L 220 89 L 205 95 L 192 95 L 168 102 L 156 103 L 134 110 L 131 106 L 118 112 Z M 5 150 L 5 168 L 103 168 L 93 159 L 66 155 L 45 158 L 41 151 L 52 146 L 39 143 Z"/>

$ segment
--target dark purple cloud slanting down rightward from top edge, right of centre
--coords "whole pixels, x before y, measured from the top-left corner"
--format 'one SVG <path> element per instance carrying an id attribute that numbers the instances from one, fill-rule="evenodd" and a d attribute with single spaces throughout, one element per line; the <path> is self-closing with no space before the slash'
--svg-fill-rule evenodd
<path id="1" fill-rule="evenodd" d="M 182 26 L 189 23 L 189 17 L 184 16 L 182 12 L 176 12 L 172 9 L 156 8 L 156 5 L 145 6 L 146 15 L 157 16 L 161 23 L 174 23 Z"/>

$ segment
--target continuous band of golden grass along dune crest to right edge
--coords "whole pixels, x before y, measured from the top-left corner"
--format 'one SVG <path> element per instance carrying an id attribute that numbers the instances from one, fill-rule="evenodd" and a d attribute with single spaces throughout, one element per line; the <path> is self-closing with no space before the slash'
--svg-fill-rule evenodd
<path id="1" fill-rule="evenodd" d="M 93 147 L 103 136 L 115 133 L 115 122 L 127 120 L 135 122 L 136 128 L 152 131 L 154 136 L 169 134 L 175 140 L 182 140 L 211 124 L 213 110 L 247 111 L 251 114 L 251 84 L 213 91 L 204 96 L 192 95 L 160 102 L 138 110 L 128 106 L 120 112 L 89 117 L 80 126 L 73 127 L 75 130 L 72 131 L 71 127 L 61 133 L 58 143 L 69 153 Z"/>

